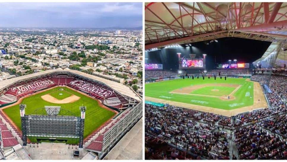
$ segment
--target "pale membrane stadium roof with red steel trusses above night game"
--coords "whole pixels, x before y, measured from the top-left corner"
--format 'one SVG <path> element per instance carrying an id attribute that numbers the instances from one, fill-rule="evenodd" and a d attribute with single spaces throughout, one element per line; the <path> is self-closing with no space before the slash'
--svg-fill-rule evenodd
<path id="1" fill-rule="evenodd" d="M 223 37 L 287 38 L 286 2 L 146 2 L 145 49 Z"/>

